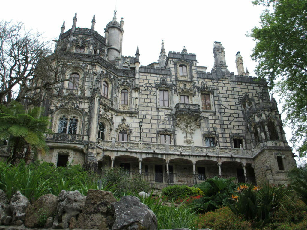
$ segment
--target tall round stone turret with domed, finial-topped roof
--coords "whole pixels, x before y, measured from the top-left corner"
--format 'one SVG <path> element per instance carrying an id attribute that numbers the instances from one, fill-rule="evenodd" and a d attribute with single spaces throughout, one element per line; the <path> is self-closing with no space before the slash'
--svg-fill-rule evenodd
<path id="1" fill-rule="evenodd" d="M 115 63 L 115 59 L 120 58 L 122 51 L 122 36 L 124 21 L 116 21 L 116 11 L 114 11 L 113 20 L 107 24 L 105 29 L 105 38 L 108 44 L 107 59 L 111 63 Z"/>

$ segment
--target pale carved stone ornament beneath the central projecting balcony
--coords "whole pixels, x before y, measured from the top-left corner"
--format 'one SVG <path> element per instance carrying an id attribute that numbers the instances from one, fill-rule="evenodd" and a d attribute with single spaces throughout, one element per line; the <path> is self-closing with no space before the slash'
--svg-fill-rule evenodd
<path id="1" fill-rule="evenodd" d="M 193 134 L 197 128 L 200 128 L 200 120 L 191 119 L 191 117 L 181 117 L 175 120 L 175 126 L 181 129 L 182 133 L 185 133 L 184 142 L 186 144 L 193 144 Z"/>

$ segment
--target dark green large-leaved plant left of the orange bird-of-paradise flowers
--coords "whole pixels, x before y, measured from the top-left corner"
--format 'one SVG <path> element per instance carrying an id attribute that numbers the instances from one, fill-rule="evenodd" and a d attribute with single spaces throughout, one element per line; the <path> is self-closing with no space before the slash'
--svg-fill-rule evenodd
<path id="1" fill-rule="evenodd" d="M 195 187 L 199 188 L 203 195 L 200 199 L 194 200 L 194 207 L 201 212 L 208 212 L 227 205 L 229 196 L 231 196 L 236 188 L 236 184 L 232 182 L 234 179 L 214 177 L 201 184 L 197 184 Z"/>

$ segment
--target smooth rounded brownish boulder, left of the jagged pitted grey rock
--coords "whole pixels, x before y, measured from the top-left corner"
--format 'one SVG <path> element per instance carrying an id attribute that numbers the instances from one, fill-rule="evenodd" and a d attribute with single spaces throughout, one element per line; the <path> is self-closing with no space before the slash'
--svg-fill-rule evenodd
<path id="1" fill-rule="evenodd" d="M 57 196 L 46 194 L 30 205 L 25 213 L 25 226 L 29 228 L 43 227 L 48 217 L 56 214 Z"/>

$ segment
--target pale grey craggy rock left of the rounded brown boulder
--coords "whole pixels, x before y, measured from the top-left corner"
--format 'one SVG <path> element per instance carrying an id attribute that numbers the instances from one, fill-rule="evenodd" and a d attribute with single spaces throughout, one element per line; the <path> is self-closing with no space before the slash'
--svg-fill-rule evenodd
<path id="1" fill-rule="evenodd" d="M 27 197 L 22 195 L 20 191 L 17 191 L 15 195 L 11 198 L 10 204 L 7 206 L 7 215 L 12 217 L 9 224 L 16 224 L 17 220 L 25 220 L 25 212 L 30 202 Z"/>

